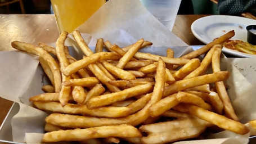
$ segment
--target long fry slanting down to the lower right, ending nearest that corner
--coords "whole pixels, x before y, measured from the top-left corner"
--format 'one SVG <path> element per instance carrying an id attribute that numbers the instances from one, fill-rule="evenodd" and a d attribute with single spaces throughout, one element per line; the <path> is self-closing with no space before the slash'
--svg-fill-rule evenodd
<path id="1" fill-rule="evenodd" d="M 212 111 L 208 111 L 202 109 L 201 107 L 197 107 L 190 104 L 183 104 L 178 106 L 183 106 L 183 110 L 186 110 L 185 112 L 195 115 L 200 119 L 203 119 L 209 123 L 217 125 L 218 127 L 226 129 L 228 131 L 242 135 L 249 132 L 249 129 L 246 127 L 246 125 L 241 124 L 240 122 L 237 122 L 235 120 L 228 119 L 223 115 L 219 115 L 213 113 Z"/>

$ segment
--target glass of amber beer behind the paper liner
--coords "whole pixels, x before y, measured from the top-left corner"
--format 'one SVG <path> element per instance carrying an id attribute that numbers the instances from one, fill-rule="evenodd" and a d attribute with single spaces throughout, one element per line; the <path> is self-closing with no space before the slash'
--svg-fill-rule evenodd
<path id="1" fill-rule="evenodd" d="M 60 33 L 71 33 L 83 24 L 106 0 L 51 0 Z"/>

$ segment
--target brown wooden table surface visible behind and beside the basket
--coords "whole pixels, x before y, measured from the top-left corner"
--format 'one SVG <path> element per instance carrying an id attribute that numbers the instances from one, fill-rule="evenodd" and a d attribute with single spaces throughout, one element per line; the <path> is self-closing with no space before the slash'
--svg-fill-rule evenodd
<path id="1" fill-rule="evenodd" d="M 190 46 L 203 45 L 194 37 L 190 26 L 192 22 L 207 15 L 178 15 L 173 33 Z M 54 15 L 0 15 L 0 51 L 12 51 L 11 42 L 20 40 L 37 42 L 56 42 L 59 31 Z M 0 97 L 0 124 L 2 124 L 13 103 Z"/>

